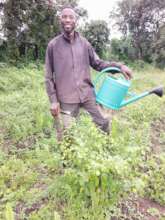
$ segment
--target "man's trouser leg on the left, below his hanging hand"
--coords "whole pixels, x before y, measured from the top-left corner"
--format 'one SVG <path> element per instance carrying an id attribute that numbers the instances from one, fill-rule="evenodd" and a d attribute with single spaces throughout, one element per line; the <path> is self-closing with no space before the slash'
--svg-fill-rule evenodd
<path id="1" fill-rule="evenodd" d="M 58 141 L 62 140 L 64 131 L 75 121 L 75 118 L 79 113 L 79 104 L 61 103 L 60 109 L 61 113 L 54 120 L 54 127 L 56 129 Z"/>

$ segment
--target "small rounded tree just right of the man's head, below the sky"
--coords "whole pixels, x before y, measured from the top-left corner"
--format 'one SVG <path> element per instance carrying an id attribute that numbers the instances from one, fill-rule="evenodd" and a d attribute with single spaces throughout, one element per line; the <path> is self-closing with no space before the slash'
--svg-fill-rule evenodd
<path id="1" fill-rule="evenodd" d="M 83 34 L 95 48 L 96 52 L 102 56 L 109 42 L 107 23 L 102 20 L 91 21 L 91 23 L 85 25 Z"/>

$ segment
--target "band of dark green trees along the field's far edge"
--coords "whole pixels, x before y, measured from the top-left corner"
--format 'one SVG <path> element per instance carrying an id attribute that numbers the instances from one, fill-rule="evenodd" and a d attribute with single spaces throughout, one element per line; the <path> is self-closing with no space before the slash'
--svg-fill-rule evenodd
<path id="1" fill-rule="evenodd" d="M 1 1 L 0 31 L 5 43 L 2 45 L 1 39 L 0 56 L 5 54 L 11 61 L 22 56 L 43 59 L 48 41 L 60 32 L 58 12 L 64 5 L 74 7 L 80 17 L 87 18 L 78 0 Z M 120 0 L 110 18 L 122 33 L 121 39 L 111 40 L 111 52 L 116 57 L 165 66 L 165 1 Z M 80 31 L 100 56 L 108 50 L 110 30 L 105 21 L 86 19 Z"/>

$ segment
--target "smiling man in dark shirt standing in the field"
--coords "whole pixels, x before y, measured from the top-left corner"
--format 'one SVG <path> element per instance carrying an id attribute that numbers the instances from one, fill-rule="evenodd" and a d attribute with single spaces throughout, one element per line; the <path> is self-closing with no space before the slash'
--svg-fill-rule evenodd
<path id="1" fill-rule="evenodd" d="M 59 140 L 62 136 L 60 116 L 66 129 L 77 117 L 80 107 L 91 115 L 100 129 L 108 132 L 109 122 L 100 113 L 95 101 L 90 66 L 97 71 L 116 66 L 127 79 L 132 75 L 125 65 L 99 59 L 90 43 L 75 31 L 76 22 L 75 11 L 70 7 L 63 8 L 60 14 L 63 33 L 49 42 L 46 51 L 46 90 Z"/>

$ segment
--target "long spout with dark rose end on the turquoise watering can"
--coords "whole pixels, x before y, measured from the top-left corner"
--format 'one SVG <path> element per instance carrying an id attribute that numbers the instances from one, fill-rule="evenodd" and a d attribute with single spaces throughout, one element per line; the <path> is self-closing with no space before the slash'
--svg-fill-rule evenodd
<path id="1" fill-rule="evenodd" d="M 133 102 L 136 102 L 137 100 L 142 99 L 145 96 L 148 96 L 148 95 L 151 95 L 151 94 L 155 94 L 159 97 L 162 97 L 163 96 L 163 86 L 156 87 L 156 88 L 154 88 L 150 91 L 144 92 L 140 95 L 133 95 L 133 97 L 128 99 L 128 100 L 123 100 L 122 103 L 120 104 L 120 108 L 124 107 L 128 104 L 131 104 Z"/>

